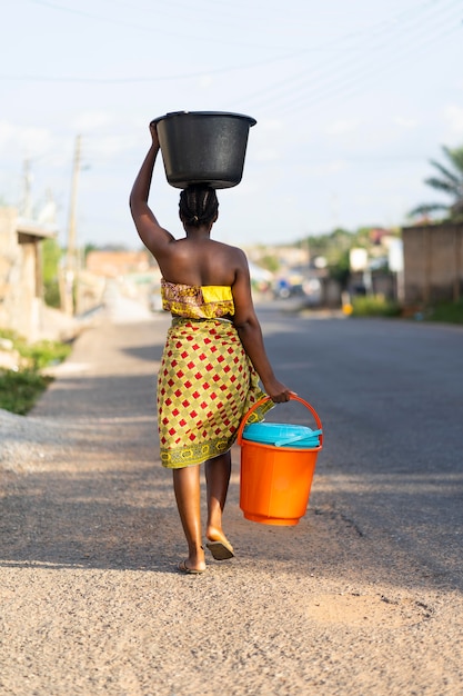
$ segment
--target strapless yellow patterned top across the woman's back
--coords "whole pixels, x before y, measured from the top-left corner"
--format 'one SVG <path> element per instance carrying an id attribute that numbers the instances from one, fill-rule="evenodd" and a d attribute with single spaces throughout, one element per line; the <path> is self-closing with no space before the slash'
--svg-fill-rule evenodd
<path id="1" fill-rule="evenodd" d="M 187 319 L 220 319 L 234 315 L 229 286 L 191 286 L 161 279 L 162 308 Z"/>

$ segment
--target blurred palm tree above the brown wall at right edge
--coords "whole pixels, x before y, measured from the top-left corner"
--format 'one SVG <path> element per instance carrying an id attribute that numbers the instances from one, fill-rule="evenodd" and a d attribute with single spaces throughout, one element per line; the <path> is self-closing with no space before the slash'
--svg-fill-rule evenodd
<path id="1" fill-rule="evenodd" d="M 445 210 L 450 218 L 459 217 L 463 213 L 463 147 L 447 148 L 442 146 L 442 150 L 449 161 L 443 166 L 435 160 L 430 163 L 440 172 L 440 177 L 430 177 L 424 183 L 437 191 L 443 191 L 450 197 L 449 203 L 422 203 L 410 211 L 411 216 L 427 215 L 437 210 Z"/>

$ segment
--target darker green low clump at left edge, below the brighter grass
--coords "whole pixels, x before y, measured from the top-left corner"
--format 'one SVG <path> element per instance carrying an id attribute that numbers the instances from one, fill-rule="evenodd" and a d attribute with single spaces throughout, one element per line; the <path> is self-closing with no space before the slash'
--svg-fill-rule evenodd
<path id="1" fill-rule="evenodd" d="M 0 369 L 0 408 L 24 416 L 52 381 L 36 370 Z"/>

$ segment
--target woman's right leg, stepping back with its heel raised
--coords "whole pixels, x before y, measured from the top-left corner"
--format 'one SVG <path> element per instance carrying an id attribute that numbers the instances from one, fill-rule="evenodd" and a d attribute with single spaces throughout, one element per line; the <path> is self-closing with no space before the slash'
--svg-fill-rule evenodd
<path id="1" fill-rule="evenodd" d="M 208 490 L 208 524 L 205 536 L 210 541 L 227 539 L 222 529 L 222 513 L 225 507 L 231 474 L 231 455 L 225 453 L 205 463 Z"/>

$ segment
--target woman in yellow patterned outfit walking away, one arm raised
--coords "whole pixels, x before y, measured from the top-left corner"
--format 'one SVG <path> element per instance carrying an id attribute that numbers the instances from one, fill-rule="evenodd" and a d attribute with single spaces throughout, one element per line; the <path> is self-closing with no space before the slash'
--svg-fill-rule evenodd
<path id="1" fill-rule="evenodd" d="M 134 181 L 130 208 L 141 240 L 161 269 L 163 307 L 173 317 L 158 377 L 161 460 L 173 470 L 189 549 L 179 570 L 199 574 L 205 569 L 199 465 L 205 463 L 207 547 L 218 560 L 231 558 L 233 547 L 222 529 L 230 448 L 241 418 L 263 396 L 259 377 L 274 402 L 288 401 L 291 391 L 275 378 L 266 357 L 244 252 L 210 238 L 218 219 L 215 191 L 192 186 L 181 192 L 181 239 L 163 229 L 148 206 L 160 149 L 155 125 L 150 131 L 152 145 Z"/>

